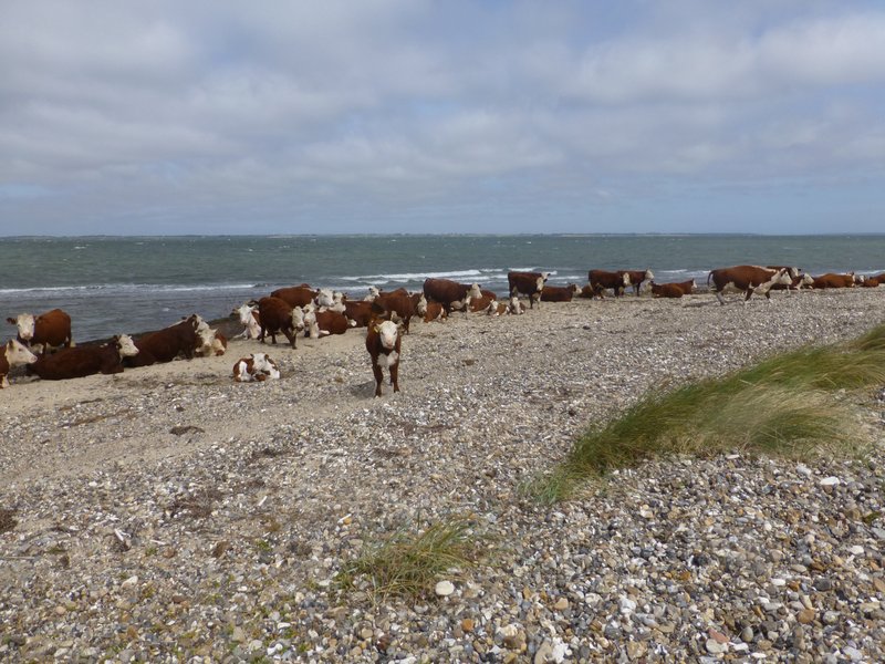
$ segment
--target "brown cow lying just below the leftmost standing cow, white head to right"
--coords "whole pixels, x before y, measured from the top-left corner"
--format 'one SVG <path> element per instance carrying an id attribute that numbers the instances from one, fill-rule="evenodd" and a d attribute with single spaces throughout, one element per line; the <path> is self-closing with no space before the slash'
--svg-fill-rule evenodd
<path id="1" fill-rule="evenodd" d="M 104 345 L 63 349 L 44 355 L 25 372 L 44 381 L 66 381 L 93 374 L 116 374 L 123 371 L 123 360 L 138 356 L 138 349 L 128 334 L 118 334 Z"/>

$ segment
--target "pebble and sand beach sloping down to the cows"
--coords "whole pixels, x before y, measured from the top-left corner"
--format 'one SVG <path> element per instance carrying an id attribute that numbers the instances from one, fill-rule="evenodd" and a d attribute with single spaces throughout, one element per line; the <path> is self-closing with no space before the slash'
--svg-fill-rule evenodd
<path id="1" fill-rule="evenodd" d="M 524 485 L 650 387 L 883 321 L 882 288 L 414 321 L 402 392 L 381 398 L 360 330 L 113 376 L 14 375 L 0 660 L 881 661 L 876 394 L 861 404 L 868 459 L 663 459 L 553 507 Z M 233 383 L 258 351 L 282 378 Z M 451 594 L 336 588 L 365 547 L 455 516 L 489 556 L 447 577 Z"/>

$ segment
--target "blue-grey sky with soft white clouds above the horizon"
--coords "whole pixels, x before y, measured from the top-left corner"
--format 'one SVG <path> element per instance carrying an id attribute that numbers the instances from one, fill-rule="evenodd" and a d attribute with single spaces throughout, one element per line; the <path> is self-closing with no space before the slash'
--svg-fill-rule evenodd
<path id="1" fill-rule="evenodd" d="M 885 3 L 4 0 L 0 236 L 885 231 Z"/>

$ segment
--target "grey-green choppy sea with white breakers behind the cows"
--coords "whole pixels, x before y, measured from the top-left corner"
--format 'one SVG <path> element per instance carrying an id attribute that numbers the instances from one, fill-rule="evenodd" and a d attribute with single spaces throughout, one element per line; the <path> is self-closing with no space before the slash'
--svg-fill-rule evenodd
<path id="1" fill-rule="evenodd" d="M 583 286 L 590 269 L 650 268 L 659 282 L 732 264 L 812 274 L 885 271 L 885 235 L 330 235 L 0 238 L 0 341 L 7 318 L 61 308 L 76 341 L 221 319 L 302 282 L 363 298 L 369 286 L 419 290 L 427 277 L 507 292 L 508 270 Z"/>

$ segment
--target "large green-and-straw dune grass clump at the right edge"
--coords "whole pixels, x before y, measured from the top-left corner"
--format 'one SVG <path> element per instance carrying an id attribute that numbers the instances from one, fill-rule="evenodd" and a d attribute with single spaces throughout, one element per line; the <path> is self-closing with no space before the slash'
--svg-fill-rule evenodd
<path id="1" fill-rule="evenodd" d="M 803 457 L 858 453 L 857 409 L 835 391 L 885 384 L 885 325 L 846 344 L 802 347 L 719 378 L 652 391 L 617 419 L 583 434 L 533 492 L 544 501 L 583 483 L 667 455 L 725 452 Z"/>

